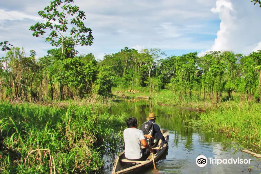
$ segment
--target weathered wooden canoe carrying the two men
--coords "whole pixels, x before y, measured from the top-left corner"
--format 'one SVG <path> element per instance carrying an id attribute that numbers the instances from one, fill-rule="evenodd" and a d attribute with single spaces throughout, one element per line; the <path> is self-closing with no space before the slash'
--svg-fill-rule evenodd
<path id="1" fill-rule="evenodd" d="M 162 130 L 166 141 L 168 142 L 168 130 Z M 167 151 L 167 145 L 164 144 L 161 140 L 159 141 L 157 147 L 153 148 L 157 150 L 157 153 L 154 154 L 154 161 L 160 160 L 160 157 Z M 117 156 L 114 161 L 113 172 L 112 174 L 123 174 L 123 173 L 139 173 L 139 171 L 144 170 L 144 168 L 151 166 L 153 164 L 152 155 L 147 158 L 145 161 L 129 161 L 125 158 L 124 151 Z"/>

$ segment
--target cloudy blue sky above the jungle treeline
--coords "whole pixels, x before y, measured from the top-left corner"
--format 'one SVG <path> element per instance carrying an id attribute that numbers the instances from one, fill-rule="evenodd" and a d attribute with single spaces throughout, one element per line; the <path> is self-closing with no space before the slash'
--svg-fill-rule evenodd
<path id="1" fill-rule="evenodd" d="M 0 42 L 23 47 L 37 57 L 53 48 L 33 37 L 30 26 L 44 22 L 38 15 L 48 0 L 8 0 L 0 7 Z M 248 55 L 261 50 L 261 8 L 250 0 L 74 0 L 93 30 L 91 46 L 77 46 L 97 59 L 122 48 L 160 48 L 167 56 L 188 52 L 232 50 Z M 0 57 L 4 56 L 3 51 Z"/>

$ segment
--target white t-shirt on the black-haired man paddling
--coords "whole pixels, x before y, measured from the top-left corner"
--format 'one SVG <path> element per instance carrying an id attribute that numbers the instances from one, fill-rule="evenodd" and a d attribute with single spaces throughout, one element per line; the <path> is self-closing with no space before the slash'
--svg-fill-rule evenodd
<path id="1" fill-rule="evenodd" d="M 136 128 L 127 128 L 123 131 L 125 143 L 125 157 L 128 159 L 139 159 L 142 157 L 142 144 L 140 140 L 145 139 L 144 133 Z"/>

